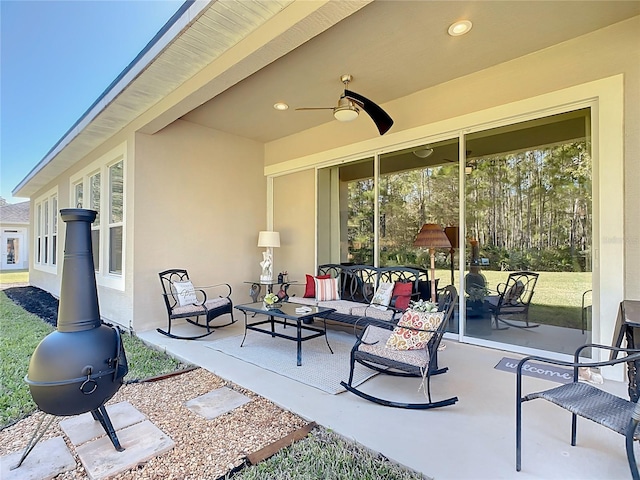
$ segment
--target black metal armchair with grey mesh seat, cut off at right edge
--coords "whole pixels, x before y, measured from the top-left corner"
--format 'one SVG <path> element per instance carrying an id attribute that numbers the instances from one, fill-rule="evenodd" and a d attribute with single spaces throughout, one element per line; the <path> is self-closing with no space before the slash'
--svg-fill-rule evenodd
<path id="1" fill-rule="evenodd" d="M 587 348 L 609 350 L 611 352 L 611 358 L 619 352 L 625 352 L 627 355 L 622 358 L 614 358 L 607 361 L 580 361 L 580 355 L 583 350 Z M 516 470 L 519 472 L 522 466 L 522 403 L 536 398 L 542 398 L 571 412 L 572 446 L 576 445 L 577 419 L 579 416 L 624 435 L 626 437 L 627 458 L 630 468 L 632 472 L 635 468 L 637 473 L 637 466 L 633 454 L 633 440 L 640 439 L 640 431 L 636 429 L 638 421 L 634 420 L 635 418 L 640 419 L 640 410 L 638 409 L 637 403 L 620 398 L 591 384 L 579 382 L 578 372 L 581 367 L 605 367 L 638 360 L 640 360 L 639 349 L 598 344 L 586 344 L 579 347 L 574 354 L 573 362 L 537 356 L 528 356 L 520 360 L 516 371 Z M 529 361 L 571 367 L 573 368 L 573 381 L 549 390 L 529 393 L 523 396 L 522 368 Z"/>

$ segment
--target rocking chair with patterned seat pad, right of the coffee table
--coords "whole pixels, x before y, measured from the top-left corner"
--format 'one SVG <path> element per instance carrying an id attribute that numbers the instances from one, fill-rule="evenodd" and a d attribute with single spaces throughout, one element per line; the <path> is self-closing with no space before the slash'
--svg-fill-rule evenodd
<path id="1" fill-rule="evenodd" d="M 458 397 L 446 400 L 432 401 L 431 399 L 431 376 L 446 372 L 447 368 L 438 368 L 438 346 L 447 324 L 453 314 L 458 299 L 458 293 L 452 285 L 443 289 L 439 295 L 438 311 L 442 314 L 439 324 L 433 329 L 418 329 L 410 326 L 397 327 L 404 328 L 404 332 L 399 332 L 396 325 L 389 323 L 370 324 L 366 327 L 361 336 L 357 339 L 351 350 L 351 370 L 349 380 L 340 382 L 349 392 L 358 395 L 370 402 L 378 403 L 388 407 L 408 408 L 408 409 L 429 409 L 453 405 L 458 401 Z M 409 311 L 405 312 L 407 315 Z M 405 318 L 403 316 L 403 318 Z M 408 318 L 408 317 L 407 317 Z M 402 320 L 400 321 L 402 322 Z M 413 332 L 416 335 L 427 334 L 422 337 L 425 340 L 423 348 L 418 350 L 396 350 L 387 348 L 387 341 L 394 333 L 407 334 Z M 411 335 L 411 333 L 409 333 Z M 430 338 L 429 338 L 430 336 Z M 374 397 L 363 392 L 360 388 L 353 386 L 353 371 L 356 362 L 377 372 L 401 376 L 401 377 L 422 377 L 425 395 L 428 402 L 424 403 L 402 403 Z"/>

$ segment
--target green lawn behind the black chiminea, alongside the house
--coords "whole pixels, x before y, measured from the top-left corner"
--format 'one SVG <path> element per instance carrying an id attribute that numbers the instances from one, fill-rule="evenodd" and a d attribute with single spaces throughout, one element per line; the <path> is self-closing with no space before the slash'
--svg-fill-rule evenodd
<path id="1" fill-rule="evenodd" d="M 0 292 L 0 429 L 35 411 L 24 377 L 31 354 L 54 328 L 26 312 Z M 180 368 L 178 360 L 147 347 L 139 338 L 122 335 L 129 373 L 125 381 L 145 379 Z"/>

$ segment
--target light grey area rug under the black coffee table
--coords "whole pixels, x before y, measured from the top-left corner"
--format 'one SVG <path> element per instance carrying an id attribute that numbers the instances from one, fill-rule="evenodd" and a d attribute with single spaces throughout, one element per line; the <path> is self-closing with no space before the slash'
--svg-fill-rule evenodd
<path id="1" fill-rule="evenodd" d="M 295 327 L 289 325 L 286 333 L 295 335 Z M 327 336 L 333 355 L 324 337 L 302 342 L 302 365 L 299 367 L 296 366 L 296 342 L 272 338 L 265 333 L 248 331 L 242 348 L 242 335 L 214 340 L 207 347 L 335 395 L 345 391 L 340 382 L 349 379 L 349 354 L 355 337 L 334 330 L 329 330 Z M 353 384 L 359 385 L 374 375 L 376 372 L 356 365 Z"/>

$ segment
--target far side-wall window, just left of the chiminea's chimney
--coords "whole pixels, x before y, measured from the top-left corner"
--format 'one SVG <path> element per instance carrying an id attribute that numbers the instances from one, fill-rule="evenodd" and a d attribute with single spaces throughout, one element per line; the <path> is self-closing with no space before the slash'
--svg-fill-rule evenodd
<path id="1" fill-rule="evenodd" d="M 55 267 L 58 248 L 58 196 L 49 193 L 36 202 L 35 264 L 40 267 Z"/>

